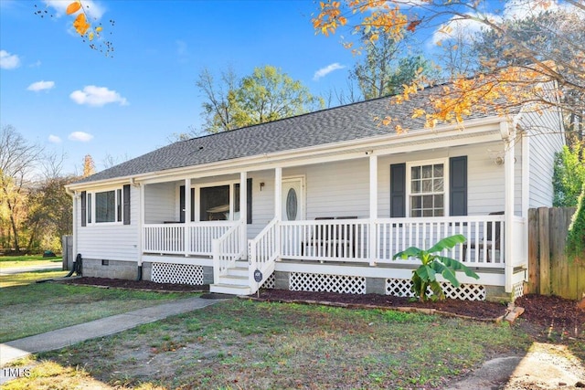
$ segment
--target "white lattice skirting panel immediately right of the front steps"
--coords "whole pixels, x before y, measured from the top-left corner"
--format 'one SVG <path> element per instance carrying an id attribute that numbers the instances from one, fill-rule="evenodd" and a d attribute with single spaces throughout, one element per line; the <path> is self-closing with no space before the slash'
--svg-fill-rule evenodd
<path id="1" fill-rule="evenodd" d="M 289 277 L 289 290 L 365 294 L 366 278 L 291 272 Z"/>

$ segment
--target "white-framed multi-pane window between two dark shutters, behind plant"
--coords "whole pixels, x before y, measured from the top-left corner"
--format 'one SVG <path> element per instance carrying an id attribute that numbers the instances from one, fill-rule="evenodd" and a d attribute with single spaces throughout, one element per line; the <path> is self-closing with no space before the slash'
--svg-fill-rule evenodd
<path id="1" fill-rule="evenodd" d="M 410 216 L 445 215 L 445 164 L 410 165 Z"/>

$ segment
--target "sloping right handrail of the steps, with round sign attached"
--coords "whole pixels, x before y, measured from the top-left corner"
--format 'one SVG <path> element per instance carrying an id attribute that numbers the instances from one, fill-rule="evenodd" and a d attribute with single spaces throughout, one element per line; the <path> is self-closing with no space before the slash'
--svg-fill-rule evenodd
<path id="1" fill-rule="evenodd" d="M 250 280 L 250 293 L 260 289 L 274 272 L 274 262 L 280 255 L 280 224 L 278 218 L 274 218 L 262 229 L 260 234 L 248 241 L 250 253 L 248 255 L 248 271 Z M 262 278 L 260 282 L 254 279 L 254 272 L 260 270 Z"/>

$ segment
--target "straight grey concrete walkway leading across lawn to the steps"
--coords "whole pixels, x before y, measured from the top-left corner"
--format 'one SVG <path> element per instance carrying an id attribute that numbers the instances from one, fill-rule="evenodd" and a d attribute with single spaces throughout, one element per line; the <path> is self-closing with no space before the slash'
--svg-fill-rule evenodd
<path id="1" fill-rule="evenodd" d="M 0 367 L 5 367 L 6 364 L 31 353 L 53 351 L 85 340 L 126 331 L 143 323 L 195 311 L 218 301 L 199 297 L 176 300 L 3 343 L 0 344 Z"/>

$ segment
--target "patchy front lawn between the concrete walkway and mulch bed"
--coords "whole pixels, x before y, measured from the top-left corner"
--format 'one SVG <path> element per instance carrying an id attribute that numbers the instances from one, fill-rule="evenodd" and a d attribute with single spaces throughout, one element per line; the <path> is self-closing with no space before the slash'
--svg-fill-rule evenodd
<path id="1" fill-rule="evenodd" d="M 529 344 L 505 324 L 227 300 L 41 353 L 30 378 L 5 388 L 443 388 Z"/>

